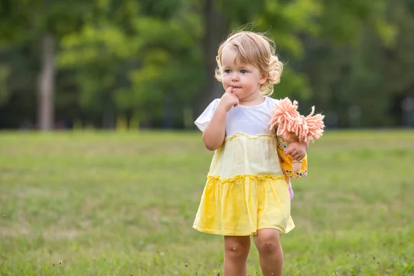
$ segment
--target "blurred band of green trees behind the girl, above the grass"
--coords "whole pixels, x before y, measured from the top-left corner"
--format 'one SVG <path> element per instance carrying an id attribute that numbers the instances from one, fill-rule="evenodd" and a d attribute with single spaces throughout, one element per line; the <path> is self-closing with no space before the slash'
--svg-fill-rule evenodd
<path id="1" fill-rule="evenodd" d="M 285 63 L 273 97 L 414 127 L 413 0 L 0 0 L 0 21 L 0 129 L 193 129 L 246 23 Z"/>

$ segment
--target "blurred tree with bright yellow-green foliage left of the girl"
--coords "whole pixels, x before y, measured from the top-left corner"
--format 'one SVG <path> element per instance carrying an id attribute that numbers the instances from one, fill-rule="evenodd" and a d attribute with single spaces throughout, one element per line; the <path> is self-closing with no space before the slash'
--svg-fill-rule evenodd
<path id="1" fill-rule="evenodd" d="M 189 106 L 201 79 L 199 19 L 190 8 L 170 0 L 111 1 L 99 20 L 63 37 L 59 66 L 76 69 L 81 106 L 101 112 L 106 127 L 119 112 L 151 124 L 164 106 Z"/>

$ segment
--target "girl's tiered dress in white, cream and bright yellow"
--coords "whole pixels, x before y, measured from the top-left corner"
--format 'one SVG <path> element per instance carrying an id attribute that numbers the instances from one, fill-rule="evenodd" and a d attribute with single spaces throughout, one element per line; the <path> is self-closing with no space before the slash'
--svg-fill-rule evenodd
<path id="1" fill-rule="evenodd" d="M 267 130 L 273 101 L 266 97 L 265 103 L 256 109 L 240 106 L 228 112 L 226 134 L 230 135 L 211 161 L 193 224 L 195 229 L 217 235 L 246 236 L 255 235 L 262 228 L 288 233 L 295 227 L 275 131 Z M 217 102 L 211 103 L 197 119 L 201 130 L 213 115 L 214 106 Z M 239 129 L 262 134 L 236 131 Z"/>

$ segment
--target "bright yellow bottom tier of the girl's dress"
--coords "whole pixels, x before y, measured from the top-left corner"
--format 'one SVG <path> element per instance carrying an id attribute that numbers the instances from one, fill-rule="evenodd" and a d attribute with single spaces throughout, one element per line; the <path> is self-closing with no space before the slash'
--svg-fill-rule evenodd
<path id="1" fill-rule="evenodd" d="M 193 227 L 226 236 L 256 235 L 262 228 L 288 233 L 295 224 L 284 175 L 209 175 Z"/>

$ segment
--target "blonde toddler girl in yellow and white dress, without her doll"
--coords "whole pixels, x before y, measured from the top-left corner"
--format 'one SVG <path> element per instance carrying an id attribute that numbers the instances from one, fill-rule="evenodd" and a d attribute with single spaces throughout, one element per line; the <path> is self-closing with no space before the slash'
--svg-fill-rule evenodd
<path id="1" fill-rule="evenodd" d="M 247 275 L 250 235 L 264 276 L 282 275 L 279 233 L 295 225 L 277 153 L 269 130 L 282 62 L 273 42 L 255 32 L 237 32 L 221 43 L 215 77 L 224 87 L 195 121 L 206 148 L 215 150 L 193 227 L 224 236 L 224 275 Z M 302 160 L 307 144 L 292 141 L 286 155 Z"/>

